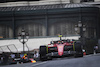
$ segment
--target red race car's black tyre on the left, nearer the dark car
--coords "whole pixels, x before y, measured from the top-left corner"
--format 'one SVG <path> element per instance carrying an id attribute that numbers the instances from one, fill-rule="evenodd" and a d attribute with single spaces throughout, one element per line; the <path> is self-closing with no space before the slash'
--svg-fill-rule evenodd
<path id="1" fill-rule="evenodd" d="M 47 47 L 46 46 L 40 46 L 39 53 L 40 53 L 40 60 L 41 61 L 47 60 L 47 57 L 46 57 Z"/>

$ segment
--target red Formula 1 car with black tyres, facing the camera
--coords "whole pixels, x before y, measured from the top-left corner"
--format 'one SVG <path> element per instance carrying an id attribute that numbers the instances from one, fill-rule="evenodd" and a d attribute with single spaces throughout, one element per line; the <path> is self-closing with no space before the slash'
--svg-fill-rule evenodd
<path id="1" fill-rule="evenodd" d="M 47 46 L 42 45 L 39 48 L 40 60 L 52 59 L 56 56 L 74 55 L 83 57 L 82 43 L 80 41 L 58 40 L 52 41 Z"/>

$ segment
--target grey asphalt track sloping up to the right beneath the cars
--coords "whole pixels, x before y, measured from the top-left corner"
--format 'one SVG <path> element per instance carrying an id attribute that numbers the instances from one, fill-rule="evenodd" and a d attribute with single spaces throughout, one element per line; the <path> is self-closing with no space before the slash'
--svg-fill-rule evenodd
<path id="1" fill-rule="evenodd" d="M 64 57 L 49 61 L 6 65 L 0 67 L 100 67 L 100 54 L 86 55 L 80 58 Z"/>

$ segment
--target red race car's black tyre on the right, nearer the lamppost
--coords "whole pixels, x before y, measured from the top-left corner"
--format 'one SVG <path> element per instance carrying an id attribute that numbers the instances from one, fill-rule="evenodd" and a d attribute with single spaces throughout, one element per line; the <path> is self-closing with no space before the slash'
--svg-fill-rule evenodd
<path id="1" fill-rule="evenodd" d="M 74 54 L 74 57 L 83 57 L 81 41 L 76 41 L 74 45 L 75 45 L 75 51 L 76 51 L 76 53 Z"/>

